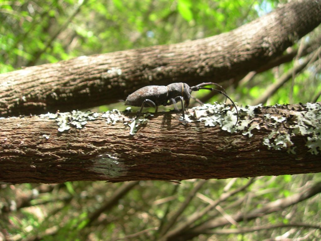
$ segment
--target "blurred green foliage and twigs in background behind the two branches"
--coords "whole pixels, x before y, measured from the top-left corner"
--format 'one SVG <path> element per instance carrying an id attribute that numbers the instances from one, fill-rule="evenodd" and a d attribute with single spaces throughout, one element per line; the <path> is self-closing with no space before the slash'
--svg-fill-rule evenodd
<path id="1" fill-rule="evenodd" d="M 286 2 L 0 0 L 0 73 L 82 55 L 205 38 L 235 29 Z M 318 56 L 312 58 L 318 48 L 320 27 L 285 51 L 283 57 L 292 56 L 287 61 L 227 81 L 224 87 L 239 104 L 255 104 L 264 94 L 268 96 L 266 104 L 321 101 L 321 64 Z M 294 68 L 306 60 L 307 66 L 296 73 Z M 290 77 L 276 85 L 285 75 Z M 203 100 L 208 102 L 220 98 L 206 91 L 197 94 L 200 99 L 206 95 Z M 100 111 L 115 107 L 124 108 L 116 103 L 100 107 Z M 320 179 L 320 174 L 258 177 L 245 190 L 209 208 L 178 237 L 320 240 L 320 194 L 289 207 L 281 205 L 272 213 L 262 211 L 256 218 L 246 218 L 247 213 L 273 201 L 282 203 L 288 197 L 294 200 L 295 195 L 301 195 Z M 181 184 L 141 181 L 0 185 L 0 240 L 158 240 L 224 193 L 247 182 L 238 178 L 187 180 Z M 244 218 L 236 219 L 236 214 Z M 195 237 L 187 235 L 189 230 L 221 217 L 228 222 L 204 229 Z M 242 227 L 263 228 L 240 232 Z"/>

